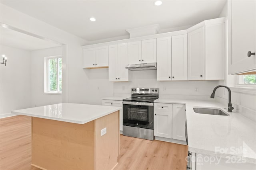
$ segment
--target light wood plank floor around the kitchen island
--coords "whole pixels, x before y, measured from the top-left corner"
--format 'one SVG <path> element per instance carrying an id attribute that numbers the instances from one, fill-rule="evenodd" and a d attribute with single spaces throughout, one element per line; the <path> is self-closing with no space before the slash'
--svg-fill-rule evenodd
<path id="1" fill-rule="evenodd" d="M 186 170 L 187 146 L 120 135 L 114 170 Z M 40 170 L 31 163 L 31 117 L 0 119 L 0 170 Z"/>

